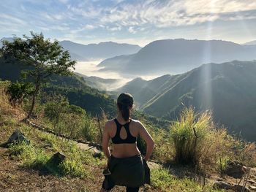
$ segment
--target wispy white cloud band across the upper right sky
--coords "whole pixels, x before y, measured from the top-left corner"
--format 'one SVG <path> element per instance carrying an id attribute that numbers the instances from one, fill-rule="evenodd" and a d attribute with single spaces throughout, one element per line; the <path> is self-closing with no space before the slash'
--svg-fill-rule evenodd
<path id="1" fill-rule="evenodd" d="M 118 23 L 132 31 L 132 26 L 187 26 L 222 19 L 226 13 L 255 9 L 255 0 L 136 1 L 134 4 L 121 3 L 101 10 L 100 22 Z M 252 18 L 252 15 L 244 15 L 243 18 Z M 225 17 L 225 20 L 228 19 L 233 20 L 233 15 Z"/>

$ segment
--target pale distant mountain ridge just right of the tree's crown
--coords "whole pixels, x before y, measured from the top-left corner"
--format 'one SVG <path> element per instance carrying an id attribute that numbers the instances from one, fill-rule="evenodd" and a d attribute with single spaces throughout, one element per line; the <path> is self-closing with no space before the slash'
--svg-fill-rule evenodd
<path id="1" fill-rule="evenodd" d="M 137 53 L 140 50 L 138 45 L 119 44 L 116 42 L 100 42 L 99 44 L 83 45 L 71 41 L 61 41 L 59 44 L 69 50 L 73 59 L 87 61 L 89 59 L 104 59 L 116 55 L 127 55 Z"/>

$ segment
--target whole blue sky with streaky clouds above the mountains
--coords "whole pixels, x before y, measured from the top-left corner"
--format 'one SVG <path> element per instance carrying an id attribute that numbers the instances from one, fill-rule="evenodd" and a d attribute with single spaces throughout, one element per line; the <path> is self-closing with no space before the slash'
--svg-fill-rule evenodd
<path id="1" fill-rule="evenodd" d="M 84 44 L 256 40 L 255 0 L 1 0 L 0 39 L 42 32 Z"/>

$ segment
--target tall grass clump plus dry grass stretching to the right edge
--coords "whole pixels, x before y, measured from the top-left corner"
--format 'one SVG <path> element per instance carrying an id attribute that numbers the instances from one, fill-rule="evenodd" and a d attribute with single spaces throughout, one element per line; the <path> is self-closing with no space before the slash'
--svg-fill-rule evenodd
<path id="1" fill-rule="evenodd" d="M 214 125 L 211 112 L 197 114 L 191 107 L 171 125 L 170 138 L 178 163 L 194 162 L 202 172 L 222 172 L 227 161 L 255 166 L 255 143 L 242 142 Z"/>

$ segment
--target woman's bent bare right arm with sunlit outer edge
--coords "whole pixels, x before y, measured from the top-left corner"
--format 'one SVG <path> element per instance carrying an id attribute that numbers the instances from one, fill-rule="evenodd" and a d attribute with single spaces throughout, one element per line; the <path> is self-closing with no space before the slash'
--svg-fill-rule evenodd
<path id="1" fill-rule="evenodd" d="M 152 139 L 151 135 L 148 133 L 146 128 L 143 126 L 142 123 L 139 122 L 140 128 L 139 128 L 139 134 L 142 139 L 145 140 L 146 145 L 147 145 L 147 150 L 146 150 L 146 155 L 145 155 L 145 161 L 148 161 L 148 158 L 152 155 L 153 153 L 153 148 L 154 148 L 154 140 Z"/>

